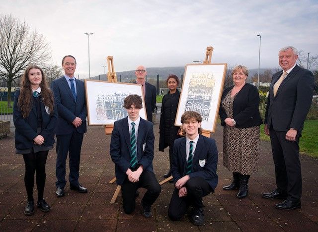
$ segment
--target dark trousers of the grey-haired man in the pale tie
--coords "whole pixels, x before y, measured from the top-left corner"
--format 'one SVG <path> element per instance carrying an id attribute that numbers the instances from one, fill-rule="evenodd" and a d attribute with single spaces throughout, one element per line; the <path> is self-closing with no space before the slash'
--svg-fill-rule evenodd
<path id="1" fill-rule="evenodd" d="M 302 171 L 299 161 L 299 138 L 285 139 L 286 131 L 270 129 L 276 184 L 279 191 L 288 194 L 288 200 L 299 200 L 302 196 Z"/>

